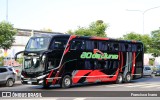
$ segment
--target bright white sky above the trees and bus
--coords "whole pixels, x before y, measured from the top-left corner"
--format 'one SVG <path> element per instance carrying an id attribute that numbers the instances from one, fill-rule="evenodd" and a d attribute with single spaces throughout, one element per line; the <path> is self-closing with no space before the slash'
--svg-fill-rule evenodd
<path id="1" fill-rule="evenodd" d="M 8 0 L 8 19 L 6 1 L 0 0 L 0 22 L 8 20 L 15 28 L 67 32 L 103 20 L 107 36 L 118 38 L 160 27 L 160 0 Z M 143 11 L 154 7 L 144 13 L 143 33 Z"/>

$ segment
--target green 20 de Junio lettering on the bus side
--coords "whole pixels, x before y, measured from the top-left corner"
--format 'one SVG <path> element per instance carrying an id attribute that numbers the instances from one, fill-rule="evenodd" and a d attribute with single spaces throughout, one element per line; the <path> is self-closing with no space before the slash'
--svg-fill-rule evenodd
<path id="1" fill-rule="evenodd" d="M 92 52 L 83 52 L 80 56 L 81 59 L 118 59 L 117 54 L 108 54 L 108 53 L 103 53 L 98 54 L 98 53 L 92 53 Z"/>

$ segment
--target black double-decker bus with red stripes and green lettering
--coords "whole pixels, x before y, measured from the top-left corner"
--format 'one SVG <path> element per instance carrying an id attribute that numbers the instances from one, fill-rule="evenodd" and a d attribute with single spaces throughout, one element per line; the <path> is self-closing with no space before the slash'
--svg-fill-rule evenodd
<path id="1" fill-rule="evenodd" d="M 28 41 L 23 53 L 23 84 L 123 83 L 142 77 L 143 44 L 66 34 L 41 34 Z"/>

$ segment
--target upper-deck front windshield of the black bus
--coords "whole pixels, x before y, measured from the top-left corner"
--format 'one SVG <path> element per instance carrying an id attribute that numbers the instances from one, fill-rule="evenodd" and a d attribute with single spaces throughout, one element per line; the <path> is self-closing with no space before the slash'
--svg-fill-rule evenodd
<path id="1" fill-rule="evenodd" d="M 46 50 L 50 43 L 50 37 L 33 37 L 29 40 L 26 51 L 41 51 Z"/>

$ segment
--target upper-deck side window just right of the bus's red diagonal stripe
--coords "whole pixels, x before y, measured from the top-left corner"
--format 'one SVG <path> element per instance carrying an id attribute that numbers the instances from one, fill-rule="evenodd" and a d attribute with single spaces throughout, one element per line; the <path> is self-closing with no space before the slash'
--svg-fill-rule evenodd
<path id="1" fill-rule="evenodd" d="M 71 50 L 83 50 L 85 49 L 84 41 L 72 41 Z"/>

